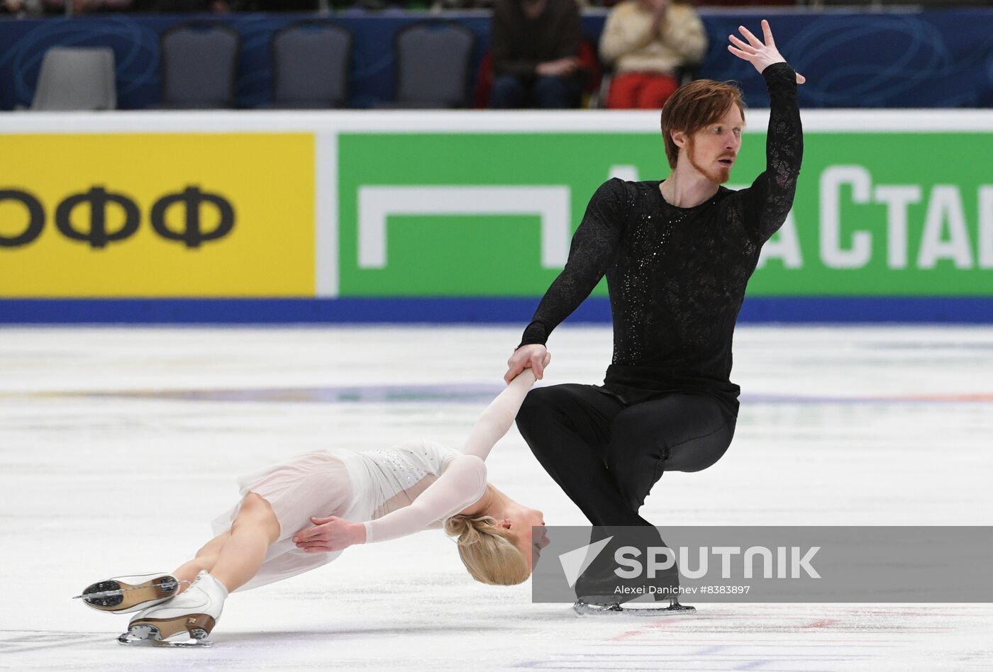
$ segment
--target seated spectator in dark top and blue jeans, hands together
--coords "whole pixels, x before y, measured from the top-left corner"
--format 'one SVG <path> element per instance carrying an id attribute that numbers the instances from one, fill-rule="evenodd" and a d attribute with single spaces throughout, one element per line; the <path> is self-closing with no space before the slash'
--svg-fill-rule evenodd
<path id="1" fill-rule="evenodd" d="M 576 0 L 497 0 L 490 106 L 578 107 L 582 37 Z"/>

